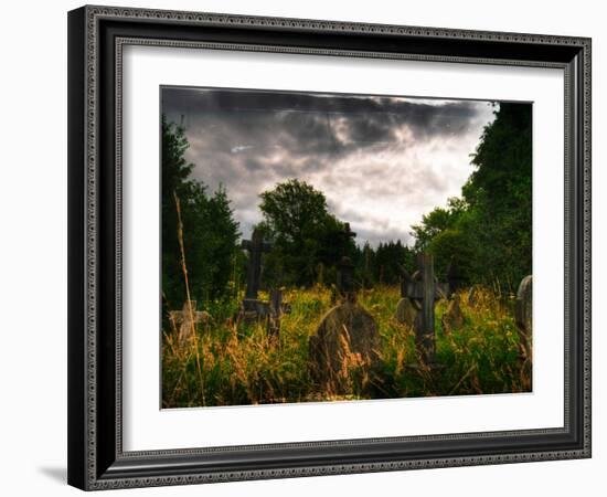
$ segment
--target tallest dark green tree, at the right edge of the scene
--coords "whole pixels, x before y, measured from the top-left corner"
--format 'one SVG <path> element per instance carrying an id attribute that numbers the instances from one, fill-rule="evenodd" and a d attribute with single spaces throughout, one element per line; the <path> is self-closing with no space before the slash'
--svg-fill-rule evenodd
<path id="1" fill-rule="evenodd" d="M 529 104 L 500 104 L 481 137 L 462 190 L 475 212 L 473 273 L 514 287 L 531 274 L 532 116 Z"/>

